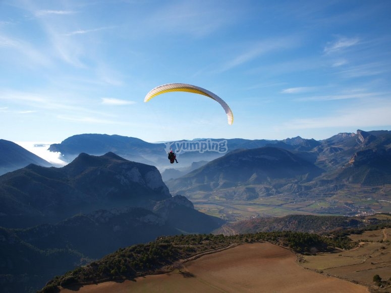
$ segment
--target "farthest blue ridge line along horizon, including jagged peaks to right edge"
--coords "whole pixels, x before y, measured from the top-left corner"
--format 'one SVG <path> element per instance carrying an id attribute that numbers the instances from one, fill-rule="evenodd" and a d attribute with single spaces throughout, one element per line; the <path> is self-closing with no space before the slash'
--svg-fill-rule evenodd
<path id="1" fill-rule="evenodd" d="M 319 141 L 303 139 L 300 136 L 284 140 L 249 140 L 241 138 L 209 138 L 209 140 L 227 141 L 228 152 L 265 146 L 278 147 L 295 152 L 309 161 L 312 160 L 318 167 L 329 170 L 346 163 L 346 160 L 349 160 L 354 152 L 371 147 L 371 143 L 372 145 L 381 144 L 386 146 L 386 142 L 389 140 L 386 137 L 389 135 L 389 131 L 383 130 L 369 132 L 357 130 L 356 133 L 339 133 Z M 207 139 L 203 140 L 206 141 Z M 169 147 L 170 145 L 166 143 L 148 143 L 133 137 L 80 134 L 71 136 L 60 144 L 50 145 L 49 150 L 61 152 L 63 158 L 69 161 L 72 161 L 82 152 L 90 155 L 102 155 L 111 151 L 132 161 L 154 165 L 162 172 L 167 168 L 173 167 L 167 163 L 166 153 Z M 176 151 L 175 143 L 171 147 Z M 225 153 L 188 151 L 179 154 L 181 163 L 175 165 L 175 168 L 183 172 L 194 162 L 211 161 L 223 155 Z M 173 173 L 173 170 L 171 173 Z M 174 175 L 174 177 L 176 176 Z"/>

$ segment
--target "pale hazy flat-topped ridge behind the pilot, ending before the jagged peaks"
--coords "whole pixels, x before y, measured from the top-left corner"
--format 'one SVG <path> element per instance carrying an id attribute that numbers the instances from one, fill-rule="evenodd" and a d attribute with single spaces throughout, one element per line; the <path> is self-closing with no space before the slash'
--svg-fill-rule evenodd
<path id="1" fill-rule="evenodd" d="M 206 141 L 208 139 L 204 139 Z M 227 141 L 227 150 L 232 151 L 238 148 L 256 148 L 266 145 L 272 145 L 278 141 L 270 140 L 247 140 L 247 139 L 209 139 L 211 141 L 220 142 Z M 172 168 L 172 165 L 167 160 L 167 152 L 172 148 L 177 152 L 177 144 L 194 141 L 176 141 L 167 143 L 148 143 L 134 137 L 125 137 L 120 135 L 106 134 L 79 134 L 65 139 L 60 144 L 52 144 L 49 151 L 61 152 L 62 158 L 72 161 L 80 153 L 90 155 L 102 155 L 107 152 L 114 152 L 126 159 L 151 164 L 163 171 L 166 168 Z M 199 142 L 199 141 L 197 141 Z M 170 145 L 171 143 L 171 145 Z M 282 144 L 288 146 L 284 142 Z M 211 161 L 215 158 L 224 155 L 216 151 L 207 151 L 200 153 L 199 151 L 185 151 L 178 155 L 181 163 L 176 165 L 181 173 L 191 168 L 192 163 L 198 161 Z M 170 178 L 169 178 L 170 179 Z"/>

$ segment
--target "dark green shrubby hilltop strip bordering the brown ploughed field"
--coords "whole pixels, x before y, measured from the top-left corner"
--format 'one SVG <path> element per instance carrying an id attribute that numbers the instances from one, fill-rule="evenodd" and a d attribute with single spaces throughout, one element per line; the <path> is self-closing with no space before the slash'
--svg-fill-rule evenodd
<path id="1" fill-rule="evenodd" d="M 377 227 L 390 227 L 389 219 Z M 246 233 L 236 236 L 222 235 L 187 235 L 160 237 L 154 242 L 121 248 L 101 260 L 76 268 L 67 274 L 49 281 L 42 292 L 55 292 L 58 287 L 80 288 L 83 284 L 99 283 L 109 280 L 133 280 L 149 274 L 159 274 L 178 269 L 184 277 L 192 277 L 184 269 L 184 263 L 200 256 L 219 252 L 243 243 L 269 242 L 291 249 L 300 255 L 315 255 L 322 252 L 335 252 L 357 247 L 347 235 L 362 233 L 360 230 L 342 230 L 340 233 L 327 233 L 323 236 L 294 231 L 273 231 Z M 389 244 L 387 245 L 389 250 Z M 268 256 L 271 257 L 271 256 Z M 381 267 L 381 266 L 380 266 Z M 196 276 L 193 276 L 196 277 Z"/>

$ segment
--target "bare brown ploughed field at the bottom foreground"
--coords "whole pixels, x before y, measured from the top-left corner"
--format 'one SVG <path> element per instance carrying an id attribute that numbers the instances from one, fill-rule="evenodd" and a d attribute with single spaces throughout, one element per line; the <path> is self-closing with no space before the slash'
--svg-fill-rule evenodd
<path id="1" fill-rule="evenodd" d="M 367 287 L 308 270 L 291 251 L 244 244 L 183 263 L 171 273 L 85 285 L 78 292 L 368 292 Z M 74 292 L 62 289 L 63 293 Z"/>

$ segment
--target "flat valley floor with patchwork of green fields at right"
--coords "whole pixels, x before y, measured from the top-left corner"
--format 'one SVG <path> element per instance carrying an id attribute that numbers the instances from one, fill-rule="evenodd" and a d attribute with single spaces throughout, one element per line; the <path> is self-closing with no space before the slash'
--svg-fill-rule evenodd
<path id="1" fill-rule="evenodd" d="M 369 192 L 339 193 L 325 198 L 292 199 L 270 196 L 254 200 L 228 201 L 213 197 L 203 199 L 200 195 L 191 198 L 194 207 L 206 214 L 226 219 L 230 222 L 254 216 L 282 217 L 291 214 L 356 215 L 375 212 L 391 212 L 391 199 L 379 200 L 378 194 Z M 353 193 L 353 192 L 352 192 Z"/>

